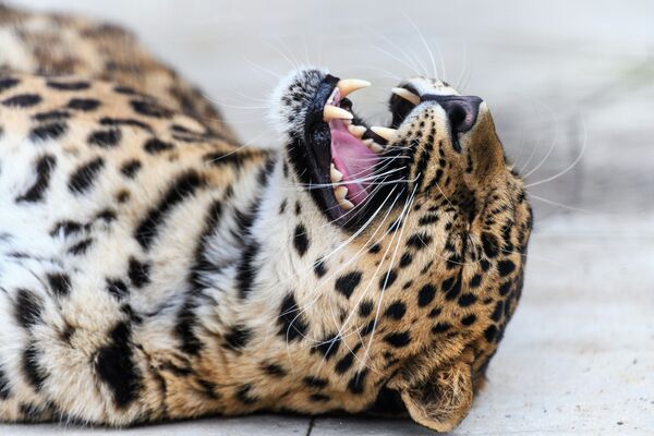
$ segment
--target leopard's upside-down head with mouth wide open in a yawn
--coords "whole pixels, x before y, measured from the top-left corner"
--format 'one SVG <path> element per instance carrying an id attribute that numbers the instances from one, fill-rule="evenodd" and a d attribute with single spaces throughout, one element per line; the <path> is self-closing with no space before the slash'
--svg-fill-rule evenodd
<path id="1" fill-rule="evenodd" d="M 336 290 L 338 334 L 364 350 L 359 374 L 383 374 L 382 393 L 448 431 L 518 302 L 531 208 L 484 100 L 413 77 L 375 128 L 350 100 L 364 85 L 311 69 L 278 92 L 288 178 L 315 227 L 342 241 L 319 261 L 328 286 L 312 292 Z"/>

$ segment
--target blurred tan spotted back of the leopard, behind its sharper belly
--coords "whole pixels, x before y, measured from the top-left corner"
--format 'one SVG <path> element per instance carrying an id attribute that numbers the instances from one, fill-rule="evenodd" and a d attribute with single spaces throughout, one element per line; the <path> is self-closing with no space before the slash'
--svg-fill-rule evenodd
<path id="1" fill-rule="evenodd" d="M 0 4 L 0 70 L 120 84 L 193 117 L 214 135 L 235 140 L 197 87 L 154 58 L 132 33 L 111 23 Z"/>

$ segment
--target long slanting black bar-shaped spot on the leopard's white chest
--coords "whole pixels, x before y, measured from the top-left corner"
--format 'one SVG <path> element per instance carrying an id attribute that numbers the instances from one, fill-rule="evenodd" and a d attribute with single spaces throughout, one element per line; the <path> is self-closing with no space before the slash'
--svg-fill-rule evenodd
<path id="1" fill-rule="evenodd" d="M 160 226 L 168 215 L 171 214 L 171 210 L 178 204 L 192 197 L 203 183 L 204 180 L 195 171 L 182 173 L 172 182 L 164 197 L 148 211 L 147 216 L 134 231 L 134 239 L 136 239 L 144 250 L 150 247 L 152 242 L 159 232 Z"/>

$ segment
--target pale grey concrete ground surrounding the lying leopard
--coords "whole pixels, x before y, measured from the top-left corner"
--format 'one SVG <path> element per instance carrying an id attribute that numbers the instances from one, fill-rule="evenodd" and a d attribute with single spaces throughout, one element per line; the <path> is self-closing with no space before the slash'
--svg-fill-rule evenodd
<path id="1" fill-rule="evenodd" d="M 390 86 L 416 71 L 484 97 L 526 175 L 536 229 L 521 306 L 453 434 L 654 434 L 654 3 L 15 2 L 136 29 L 256 145 L 270 144 L 267 95 L 299 63 L 373 81 L 354 99 L 377 121 Z M 405 421 L 288 415 L 120 432 L 0 425 L 0 435 L 64 432 L 429 434 Z"/>

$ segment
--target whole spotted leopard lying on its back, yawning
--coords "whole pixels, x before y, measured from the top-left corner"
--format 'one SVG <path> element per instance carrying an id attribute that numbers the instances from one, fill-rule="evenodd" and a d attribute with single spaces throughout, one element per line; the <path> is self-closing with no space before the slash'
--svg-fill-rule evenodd
<path id="1" fill-rule="evenodd" d="M 520 299 L 533 214 L 486 101 L 282 78 L 239 140 L 137 37 L 0 8 L 0 421 L 255 412 L 457 427 Z M 374 417 L 373 417 L 374 419 Z"/>

